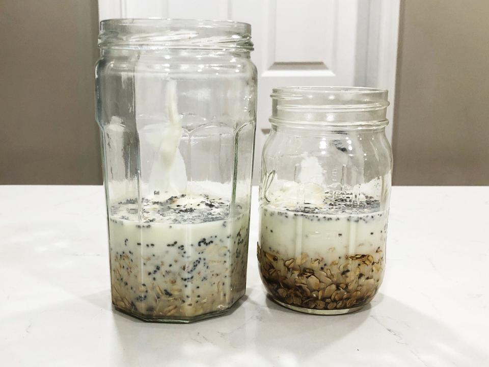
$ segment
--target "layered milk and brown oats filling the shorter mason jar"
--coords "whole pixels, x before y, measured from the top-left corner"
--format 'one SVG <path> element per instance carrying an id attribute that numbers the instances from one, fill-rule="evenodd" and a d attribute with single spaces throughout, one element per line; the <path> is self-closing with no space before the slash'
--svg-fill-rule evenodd
<path id="1" fill-rule="evenodd" d="M 268 293 L 284 306 L 345 313 L 364 306 L 382 283 L 388 213 L 359 195 L 315 195 L 293 205 L 260 206 L 257 256 Z"/>

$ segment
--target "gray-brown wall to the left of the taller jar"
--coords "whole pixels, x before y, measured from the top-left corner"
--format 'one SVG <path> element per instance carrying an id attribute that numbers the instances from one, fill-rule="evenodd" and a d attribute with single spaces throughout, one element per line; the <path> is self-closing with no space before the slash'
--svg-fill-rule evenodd
<path id="1" fill-rule="evenodd" d="M 96 0 L 0 1 L 0 184 L 101 183 Z"/>

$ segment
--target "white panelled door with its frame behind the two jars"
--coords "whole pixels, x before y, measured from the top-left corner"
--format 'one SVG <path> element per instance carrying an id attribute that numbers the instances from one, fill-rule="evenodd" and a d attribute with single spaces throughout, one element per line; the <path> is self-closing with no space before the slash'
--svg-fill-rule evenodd
<path id="1" fill-rule="evenodd" d="M 371 86 L 394 100 L 399 0 L 99 0 L 99 18 L 196 18 L 252 25 L 258 69 L 254 182 L 280 86 Z M 392 122 L 392 106 L 388 118 Z M 387 131 L 389 140 L 392 127 Z"/>

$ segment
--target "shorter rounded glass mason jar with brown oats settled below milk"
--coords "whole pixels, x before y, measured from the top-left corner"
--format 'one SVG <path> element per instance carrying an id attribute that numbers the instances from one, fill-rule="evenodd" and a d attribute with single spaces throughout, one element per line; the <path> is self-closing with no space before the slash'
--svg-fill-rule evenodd
<path id="1" fill-rule="evenodd" d="M 392 153 L 387 91 L 274 89 L 257 256 L 268 294 L 308 313 L 370 302 L 385 269 Z"/>

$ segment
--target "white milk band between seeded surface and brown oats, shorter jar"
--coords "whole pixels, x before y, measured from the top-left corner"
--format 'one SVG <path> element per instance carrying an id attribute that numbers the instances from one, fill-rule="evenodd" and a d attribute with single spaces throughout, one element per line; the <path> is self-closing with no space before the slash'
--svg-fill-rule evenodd
<path id="1" fill-rule="evenodd" d="M 387 213 L 296 213 L 267 205 L 260 208 L 260 228 L 264 251 L 284 257 L 307 253 L 330 264 L 345 255 L 384 251 Z"/>

